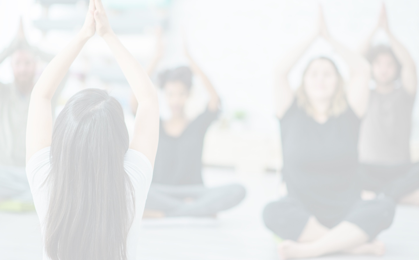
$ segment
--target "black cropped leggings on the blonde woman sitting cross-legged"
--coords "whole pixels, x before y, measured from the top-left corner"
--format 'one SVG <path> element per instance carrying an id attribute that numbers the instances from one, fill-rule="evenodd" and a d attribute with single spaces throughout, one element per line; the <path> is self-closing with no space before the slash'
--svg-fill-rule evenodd
<path id="1" fill-rule="evenodd" d="M 314 215 L 318 222 L 328 228 L 333 228 L 342 221 L 356 224 L 372 240 L 382 230 L 390 227 L 394 210 L 395 203 L 391 198 L 360 200 L 348 210 L 347 214 L 339 219 L 330 219 L 312 214 L 299 199 L 288 196 L 269 203 L 264 209 L 263 217 L 266 227 L 282 239 L 297 241 L 308 219 Z"/>

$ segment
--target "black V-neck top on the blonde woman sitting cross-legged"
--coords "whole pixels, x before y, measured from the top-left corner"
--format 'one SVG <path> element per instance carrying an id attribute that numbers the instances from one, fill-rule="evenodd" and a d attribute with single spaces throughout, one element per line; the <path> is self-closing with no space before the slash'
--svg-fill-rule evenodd
<path id="1" fill-rule="evenodd" d="M 294 101 L 280 120 L 289 196 L 314 214 L 333 218 L 359 199 L 358 132 L 360 119 L 351 109 L 319 124 Z"/>

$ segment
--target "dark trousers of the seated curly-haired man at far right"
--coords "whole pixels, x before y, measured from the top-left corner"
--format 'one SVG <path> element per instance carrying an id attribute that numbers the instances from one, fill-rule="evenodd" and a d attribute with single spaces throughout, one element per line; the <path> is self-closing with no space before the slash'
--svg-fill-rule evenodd
<path id="1" fill-rule="evenodd" d="M 419 163 L 394 166 L 362 164 L 360 174 L 363 189 L 384 193 L 395 201 L 419 189 Z"/>

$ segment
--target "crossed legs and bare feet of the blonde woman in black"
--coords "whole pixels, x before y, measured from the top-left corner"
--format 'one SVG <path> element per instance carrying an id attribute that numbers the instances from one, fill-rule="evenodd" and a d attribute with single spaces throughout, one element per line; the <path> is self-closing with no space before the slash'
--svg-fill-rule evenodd
<path id="1" fill-rule="evenodd" d="M 285 198 L 266 206 L 264 220 L 279 237 L 289 239 L 278 247 L 282 259 L 336 252 L 382 255 L 383 243 L 370 242 L 370 238 L 391 224 L 393 206 L 391 200 L 362 201 L 339 224 L 328 228 L 307 212 L 300 201 Z"/>

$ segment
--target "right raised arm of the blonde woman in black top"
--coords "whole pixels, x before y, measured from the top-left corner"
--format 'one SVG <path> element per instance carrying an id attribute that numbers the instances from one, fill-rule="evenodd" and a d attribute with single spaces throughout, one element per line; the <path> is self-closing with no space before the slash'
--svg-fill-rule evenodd
<path id="1" fill-rule="evenodd" d="M 322 14 L 321 17 L 323 17 Z M 349 107 L 351 107 L 355 114 L 358 117 L 363 117 L 367 111 L 370 98 L 370 64 L 361 54 L 349 50 L 331 38 L 323 18 L 321 18 L 320 28 L 321 36 L 333 46 L 335 51 L 346 61 L 349 67 L 350 78 L 345 88 L 347 101 Z"/>

